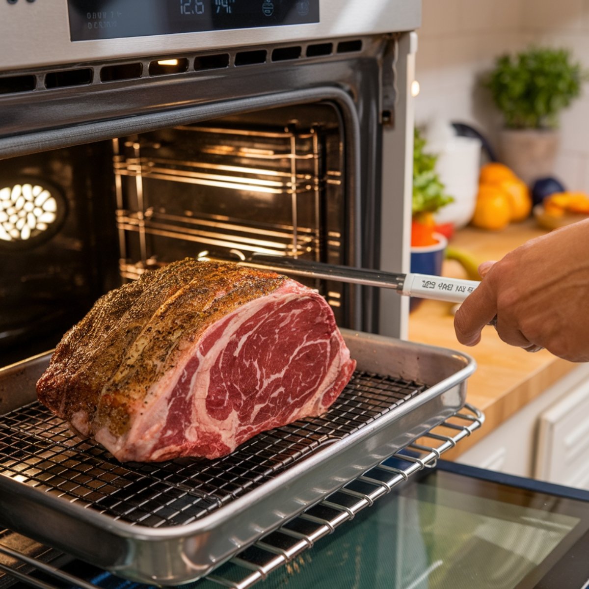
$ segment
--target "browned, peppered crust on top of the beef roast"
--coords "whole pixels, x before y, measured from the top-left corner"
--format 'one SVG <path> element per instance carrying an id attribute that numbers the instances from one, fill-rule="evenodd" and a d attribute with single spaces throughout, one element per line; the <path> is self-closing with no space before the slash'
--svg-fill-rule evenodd
<path id="1" fill-rule="evenodd" d="M 98 299 L 65 334 L 37 384 L 39 400 L 74 426 L 75 415 L 85 413 L 92 434 L 108 423 L 120 436 L 138 404 L 148 404 L 153 382 L 174 367 L 181 346 L 284 280 L 273 272 L 191 258 L 146 272 Z M 188 340 L 182 337 L 187 332 Z"/>

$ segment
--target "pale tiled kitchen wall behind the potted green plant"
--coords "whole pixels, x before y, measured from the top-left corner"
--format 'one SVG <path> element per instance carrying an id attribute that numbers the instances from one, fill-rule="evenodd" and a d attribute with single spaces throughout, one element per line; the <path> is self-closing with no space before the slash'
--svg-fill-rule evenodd
<path id="1" fill-rule="evenodd" d="M 502 120 L 481 80 L 505 52 L 548 44 L 589 69 L 589 0 L 422 0 L 416 121 L 436 117 L 479 128 L 492 144 Z M 555 176 L 589 191 L 589 84 L 561 116 Z"/>

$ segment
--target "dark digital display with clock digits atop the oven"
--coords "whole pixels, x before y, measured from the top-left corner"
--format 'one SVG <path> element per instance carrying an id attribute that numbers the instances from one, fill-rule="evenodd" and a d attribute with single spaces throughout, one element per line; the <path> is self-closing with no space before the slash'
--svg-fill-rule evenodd
<path id="1" fill-rule="evenodd" d="M 319 22 L 319 0 L 68 0 L 72 41 Z"/>

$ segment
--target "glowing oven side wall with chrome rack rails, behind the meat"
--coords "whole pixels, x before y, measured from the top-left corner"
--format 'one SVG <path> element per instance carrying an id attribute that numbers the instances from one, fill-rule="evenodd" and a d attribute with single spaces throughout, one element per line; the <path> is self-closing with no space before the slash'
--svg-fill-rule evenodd
<path id="1" fill-rule="evenodd" d="M 345 263 L 336 112 L 308 105 L 295 114 L 274 109 L 115 139 L 121 276 L 187 255 Z M 309 286 L 342 305 L 341 285 Z"/>

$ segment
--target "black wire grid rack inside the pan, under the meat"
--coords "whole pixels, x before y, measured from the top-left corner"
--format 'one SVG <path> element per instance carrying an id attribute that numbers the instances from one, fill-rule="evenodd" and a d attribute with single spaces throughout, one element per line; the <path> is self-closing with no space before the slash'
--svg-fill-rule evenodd
<path id="1" fill-rule="evenodd" d="M 263 432 L 216 460 L 121 464 L 38 402 L 2 416 L 0 475 L 130 524 L 196 521 L 419 395 L 425 385 L 356 371 L 329 411 Z"/>

